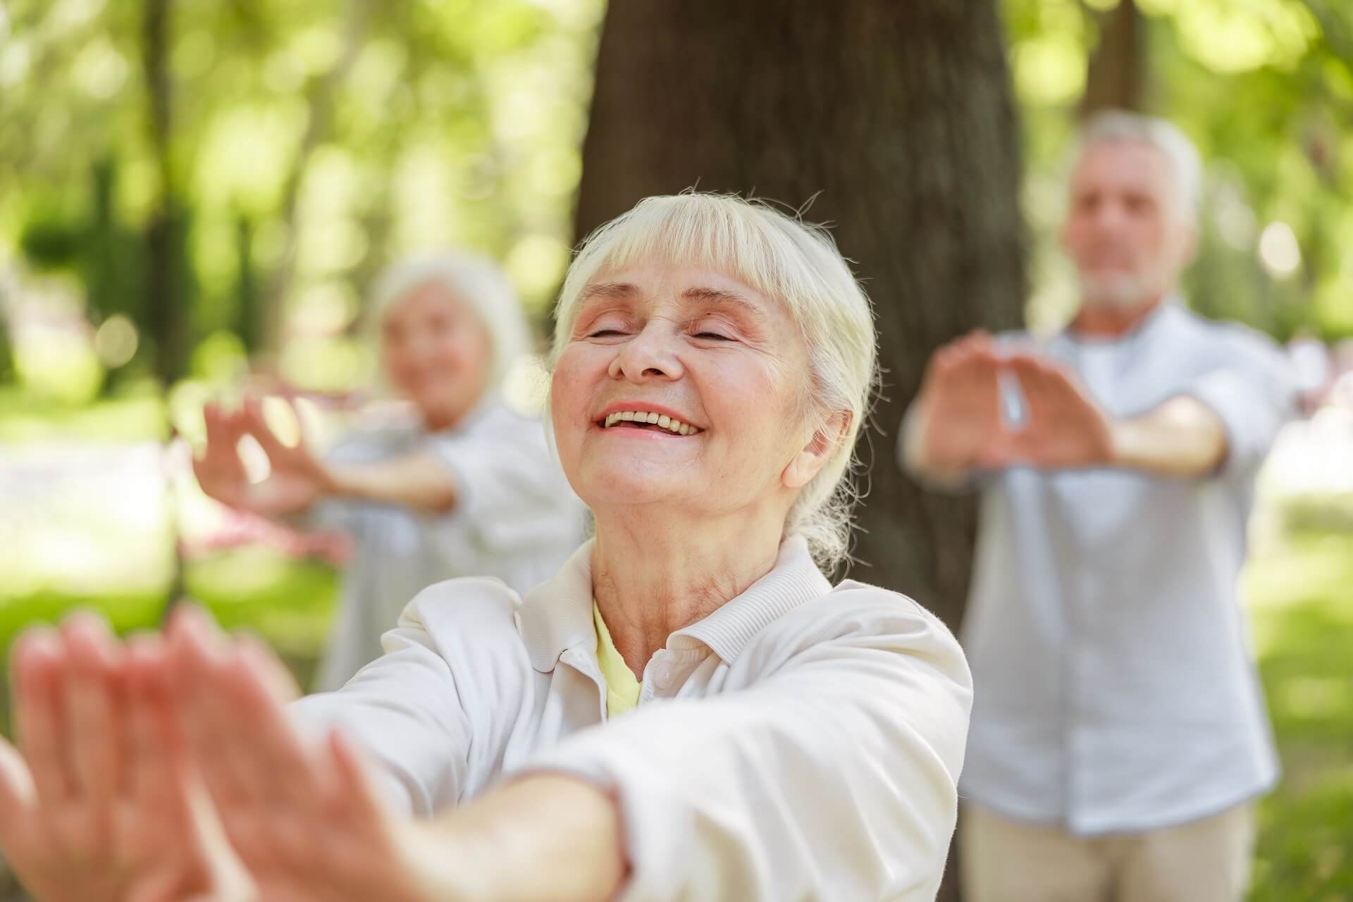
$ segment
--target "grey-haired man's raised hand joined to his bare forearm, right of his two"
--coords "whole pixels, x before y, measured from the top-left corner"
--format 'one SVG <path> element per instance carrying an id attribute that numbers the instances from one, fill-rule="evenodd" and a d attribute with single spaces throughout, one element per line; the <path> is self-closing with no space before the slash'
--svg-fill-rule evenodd
<path id="1" fill-rule="evenodd" d="M 1024 417 L 1020 427 L 1005 425 L 997 431 L 982 467 L 1062 469 L 1114 461 L 1114 421 L 1061 365 L 1016 353 L 1001 368 L 1019 380 Z"/>

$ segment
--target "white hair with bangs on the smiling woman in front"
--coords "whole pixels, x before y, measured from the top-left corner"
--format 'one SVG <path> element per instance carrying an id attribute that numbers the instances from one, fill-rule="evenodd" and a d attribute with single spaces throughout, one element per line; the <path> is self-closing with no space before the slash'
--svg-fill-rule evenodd
<path id="1" fill-rule="evenodd" d="M 829 418 L 848 414 L 850 426 L 800 492 L 785 534 L 804 536 L 820 565 L 836 565 L 850 541 L 855 440 L 877 383 L 873 310 L 836 243 L 825 229 L 760 200 L 700 192 L 647 197 L 594 231 L 568 268 L 551 366 L 572 333 L 583 289 L 602 273 L 643 262 L 736 279 L 783 304 L 798 323 L 810 369 L 805 417 L 824 429 Z"/>

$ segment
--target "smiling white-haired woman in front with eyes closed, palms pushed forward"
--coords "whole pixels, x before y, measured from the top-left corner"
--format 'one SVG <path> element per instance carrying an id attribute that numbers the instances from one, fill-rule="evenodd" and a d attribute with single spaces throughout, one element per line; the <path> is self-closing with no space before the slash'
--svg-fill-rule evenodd
<path id="1" fill-rule="evenodd" d="M 559 306 L 551 425 L 595 538 L 524 596 L 425 590 L 290 711 L 276 660 L 192 610 L 127 648 L 28 634 L 0 847 L 39 899 L 934 898 L 963 655 L 820 569 L 873 379 L 829 238 L 640 203 Z"/>

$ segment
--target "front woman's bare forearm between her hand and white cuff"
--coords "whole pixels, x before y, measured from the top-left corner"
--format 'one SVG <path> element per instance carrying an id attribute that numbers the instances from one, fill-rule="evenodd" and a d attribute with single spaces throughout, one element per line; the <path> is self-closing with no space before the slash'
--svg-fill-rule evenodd
<path id="1" fill-rule="evenodd" d="M 567 775 L 513 780 L 410 829 L 429 902 L 598 902 L 625 879 L 616 801 Z"/>

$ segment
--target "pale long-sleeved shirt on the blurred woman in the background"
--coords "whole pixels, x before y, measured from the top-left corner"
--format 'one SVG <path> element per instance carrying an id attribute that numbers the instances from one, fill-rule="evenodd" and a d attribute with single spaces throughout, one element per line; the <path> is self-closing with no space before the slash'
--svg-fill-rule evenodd
<path id="1" fill-rule="evenodd" d="M 364 464 L 429 452 L 455 479 L 448 514 L 352 499 L 322 502 L 308 526 L 353 538 L 333 633 L 317 688 L 346 683 L 380 657 L 380 637 L 409 599 L 456 576 L 497 576 L 525 592 L 548 579 L 583 541 L 583 506 L 551 456 L 538 419 L 490 398 L 455 429 L 417 423 L 359 433 L 329 458 Z"/>

